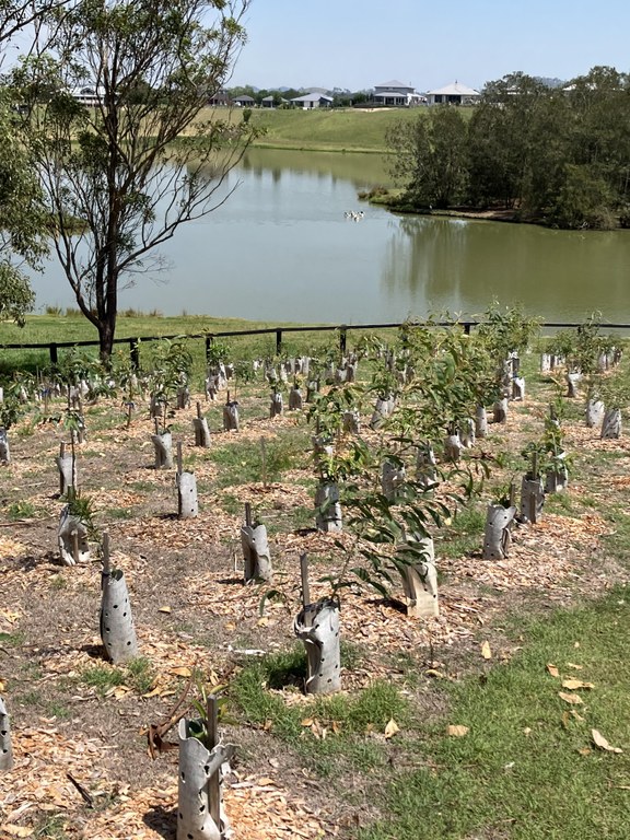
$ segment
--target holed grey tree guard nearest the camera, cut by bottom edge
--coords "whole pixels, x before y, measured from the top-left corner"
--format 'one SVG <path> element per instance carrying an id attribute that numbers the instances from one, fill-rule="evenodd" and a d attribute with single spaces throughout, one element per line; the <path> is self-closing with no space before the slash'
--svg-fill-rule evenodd
<path id="1" fill-rule="evenodd" d="M 177 840 L 224 840 L 230 833 L 220 794 L 218 822 L 211 816 L 209 782 L 215 773 L 221 773 L 221 766 L 232 758 L 235 749 L 231 744 L 217 744 L 211 751 L 208 750 L 192 734 L 199 732 L 201 726 L 201 721 L 185 718 L 178 725 Z"/>

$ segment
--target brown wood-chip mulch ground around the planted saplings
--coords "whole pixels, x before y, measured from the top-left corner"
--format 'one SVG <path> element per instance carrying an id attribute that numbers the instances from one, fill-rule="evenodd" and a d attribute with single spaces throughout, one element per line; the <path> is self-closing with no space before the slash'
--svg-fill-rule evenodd
<path id="1" fill-rule="evenodd" d="M 220 407 L 208 410 L 211 428 L 218 429 Z M 502 446 L 508 438 L 520 445 L 533 416 L 535 421 L 542 413 L 544 406 L 530 400 L 515 406 L 500 430 Z M 195 415 L 179 411 L 177 423 L 191 429 Z M 252 417 L 238 434 L 217 433 L 213 445 L 270 439 L 294 424 L 292 417 Z M 127 429 L 120 416 L 113 428 L 89 432 L 81 446 L 80 483 L 94 502 L 98 525 L 110 535 L 113 564 L 125 571 L 140 652 L 151 674 L 142 689 L 129 679 L 129 685 L 112 686 L 103 696 L 84 679 L 90 669 L 112 667 L 98 637 L 101 564 L 94 558 L 63 567 L 56 548 L 61 502 L 54 457 L 63 432 L 45 424 L 31 434 L 18 429 L 12 438 L 12 462 L 0 475 L 0 690 L 11 713 L 14 769 L 2 777 L 0 838 L 174 838 L 176 754 L 151 760 L 147 727 L 168 716 L 194 670 L 209 684 L 229 681 L 250 655 L 247 651 L 294 644 L 302 553 L 313 558 L 312 598 L 326 594 L 326 585 L 316 581 L 336 562 L 335 537 L 310 528 L 280 529 L 271 538 L 271 555 L 275 587 L 284 597 L 268 602 L 261 615 L 260 588 L 242 584 L 242 516 L 226 513 L 223 491 L 211 489 L 200 500 L 199 516 L 179 521 L 173 471 L 152 468 L 151 431 L 152 422 L 144 417 L 138 416 Z M 485 448 L 492 445 L 492 433 Z M 179 439 L 189 436 L 191 432 Z M 591 482 L 590 494 L 630 487 L 623 468 L 630 463 L 630 443 L 625 439 L 599 441 L 596 431 L 568 423 L 567 445 L 619 458 L 616 475 L 602 477 L 599 486 Z M 212 488 L 218 472 L 217 464 L 197 458 L 198 482 Z M 311 492 L 298 483 L 300 477 L 291 472 L 266 486 L 235 483 L 229 490 L 243 503 L 255 501 L 256 508 L 282 516 L 292 506 L 312 504 Z M 572 479 L 570 492 L 586 492 L 583 480 Z M 37 515 L 11 518 L 16 501 L 28 502 Z M 120 510 L 130 511 L 130 517 L 112 515 Z M 392 662 L 399 653 L 417 657 L 425 652 L 428 672 L 440 674 L 441 668 L 451 676 L 456 676 L 455 663 L 482 661 L 482 640 L 491 640 L 497 657 L 509 656 L 509 646 L 501 650 L 501 638 L 492 629 L 493 619 L 506 608 L 529 596 L 567 606 L 622 575 L 603 553 L 600 540 L 608 530 L 593 511 L 578 516 L 549 513 L 536 526 L 515 529 L 510 556 L 502 561 L 483 561 L 480 551 L 440 557 L 438 546 L 445 582 L 435 619 L 409 618 L 396 599 L 401 591 L 385 599 L 346 590 L 343 638 L 378 654 L 346 670 L 343 690 L 358 691 L 376 678 L 396 679 Z M 294 690 L 278 693 L 287 702 L 301 702 Z M 226 737 L 247 744 L 223 786 L 237 840 L 343 836 L 348 826 L 370 813 L 368 804 L 349 804 L 342 791 L 331 793 L 290 756 L 284 759 L 267 733 L 232 726 Z"/>

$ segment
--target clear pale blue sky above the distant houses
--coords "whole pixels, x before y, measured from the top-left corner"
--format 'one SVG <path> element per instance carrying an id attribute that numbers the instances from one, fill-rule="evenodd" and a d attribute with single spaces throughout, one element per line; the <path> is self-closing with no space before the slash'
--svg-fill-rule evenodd
<path id="1" fill-rule="evenodd" d="M 630 70 L 630 0 L 252 0 L 229 86 L 418 91 Z"/>

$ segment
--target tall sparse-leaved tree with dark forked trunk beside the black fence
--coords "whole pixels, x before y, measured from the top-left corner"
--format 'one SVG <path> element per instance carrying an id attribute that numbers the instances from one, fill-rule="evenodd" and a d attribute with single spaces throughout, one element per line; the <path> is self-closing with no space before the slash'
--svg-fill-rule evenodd
<path id="1" fill-rule="evenodd" d="M 249 0 L 75 0 L 13 72 L 54 249 L 112 354 L 119 293 L 164 269 L 160 246 L 226 200 L 249 129 L 205 112 L 245 40 Z M 89 107 L 75 95 L 88 89 Z"/>

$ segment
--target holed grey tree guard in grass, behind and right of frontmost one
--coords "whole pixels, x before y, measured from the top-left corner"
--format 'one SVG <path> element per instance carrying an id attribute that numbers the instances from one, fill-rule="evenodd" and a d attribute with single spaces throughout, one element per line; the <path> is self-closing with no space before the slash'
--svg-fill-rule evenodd
<path id="1" fill-rule="evenodd" d="M 295 635 L 306 648 L 308 695 L 329 695 L 341 688 L 339 604 L 322 598 L 307 604 L 293 622 Z"/>

